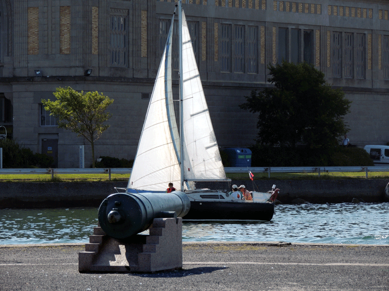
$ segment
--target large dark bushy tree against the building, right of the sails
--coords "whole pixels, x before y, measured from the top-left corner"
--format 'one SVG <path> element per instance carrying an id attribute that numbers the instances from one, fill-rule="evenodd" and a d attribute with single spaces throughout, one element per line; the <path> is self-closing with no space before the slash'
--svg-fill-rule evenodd
<path id="1" fill-rule="evenodd" d="M 333 148 L 348 128 L 344 115 L 351 101 L 332 89 L 324 74 L 307 63 L 268 65 L 274 87 L 253 90 L 242 109 L 259 113 L 258 142 L 262 145 Z"/>

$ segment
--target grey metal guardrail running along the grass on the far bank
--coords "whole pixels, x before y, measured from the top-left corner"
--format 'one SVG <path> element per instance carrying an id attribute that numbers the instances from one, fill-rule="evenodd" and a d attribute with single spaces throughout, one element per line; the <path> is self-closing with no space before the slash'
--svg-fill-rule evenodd
<path id="1" fill-rule="evenodd" d="M 368 166 L 368 167 L 226 167 L 226 173 L 248 173 L 248 169 L 252 173 L 267 173 L 270 178 L 270 173 L 318 173 L 318 176 L 323 173 L 331 172 L 364 172 L 368 178 L 369 172 L 389 172 L 389 166 Z M 35 174 L 35 175 L 54 175 L 59 174 L 107 174 L 111 180 L 111 174 L 131 174 L 132 168 L 63 168 L 63 169 L 0 169 L 0 175 L 19 175 L 19 174 Z"/>

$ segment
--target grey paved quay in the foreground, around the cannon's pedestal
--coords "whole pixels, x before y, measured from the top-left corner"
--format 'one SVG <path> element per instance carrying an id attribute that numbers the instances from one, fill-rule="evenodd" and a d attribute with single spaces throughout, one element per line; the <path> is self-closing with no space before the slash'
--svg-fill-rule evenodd
<path id="1" fill-rule="evenodd" d="M 1 291 L 387 291 L 389 245 L 183 243 L 183 268 L 78 272 L 85 244 L 0 245 Z"/>

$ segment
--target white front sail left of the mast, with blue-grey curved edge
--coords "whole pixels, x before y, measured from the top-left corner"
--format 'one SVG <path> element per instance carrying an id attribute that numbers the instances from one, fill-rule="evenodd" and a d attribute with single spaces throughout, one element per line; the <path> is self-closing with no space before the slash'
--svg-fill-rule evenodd
<path id="1" fill-rule="evenodd" d="M 172 34 L 173 20 L 127 188 L 164 191 L 169 182 L 180 184 L 181 173 L 176 153 L 179 142 L 171 81 Z"/>

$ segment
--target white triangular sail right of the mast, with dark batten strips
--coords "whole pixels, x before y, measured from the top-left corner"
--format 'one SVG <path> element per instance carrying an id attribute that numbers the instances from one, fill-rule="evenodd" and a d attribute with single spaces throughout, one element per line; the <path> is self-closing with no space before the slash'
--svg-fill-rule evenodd
<path id="1" fill-rule="evenodd" d="M 184 179 L 226 179 L 198 72 L 186 17 L 182 11 Z"/>

